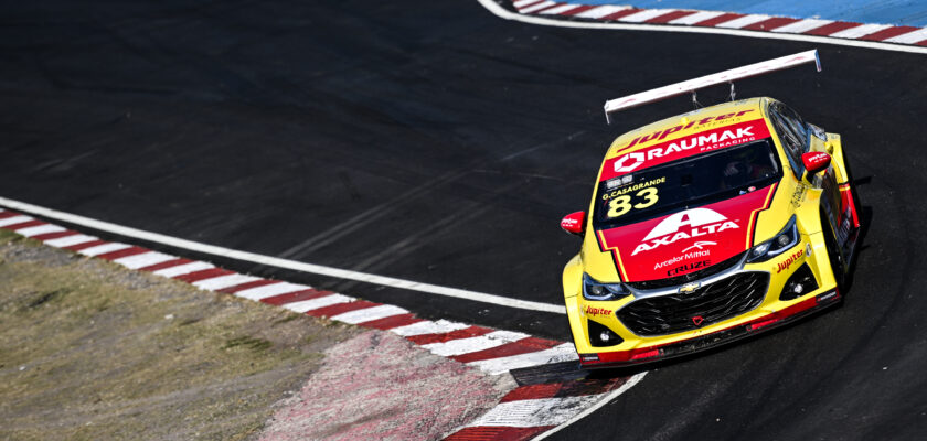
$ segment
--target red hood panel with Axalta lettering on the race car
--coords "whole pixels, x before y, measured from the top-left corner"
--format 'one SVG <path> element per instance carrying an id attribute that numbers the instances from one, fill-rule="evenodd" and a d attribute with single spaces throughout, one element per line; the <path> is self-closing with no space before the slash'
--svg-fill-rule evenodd
<path id="1" fill-rule="evenodd" d="M 720 263 L 753 246 L 758 214 L 777 184 L 728 200 L 636 224 L 596 230 L 624 281 L 684 276 Z"/>

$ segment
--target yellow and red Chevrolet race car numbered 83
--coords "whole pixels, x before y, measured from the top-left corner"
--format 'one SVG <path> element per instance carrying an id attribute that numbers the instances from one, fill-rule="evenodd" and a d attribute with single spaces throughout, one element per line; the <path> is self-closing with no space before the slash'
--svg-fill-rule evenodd
<path id="1" fill-rule="evenodd" d="M 817 51 L 619 98 L 606 114 L 814 62 Z M 694 100 L 694 95 L 693 95 Z M 618 137 L 563 271 L 580 366 L 706 349 L 837 304 L 860 217 L 841 138 L 768 97 L 733 100 Z"/>

